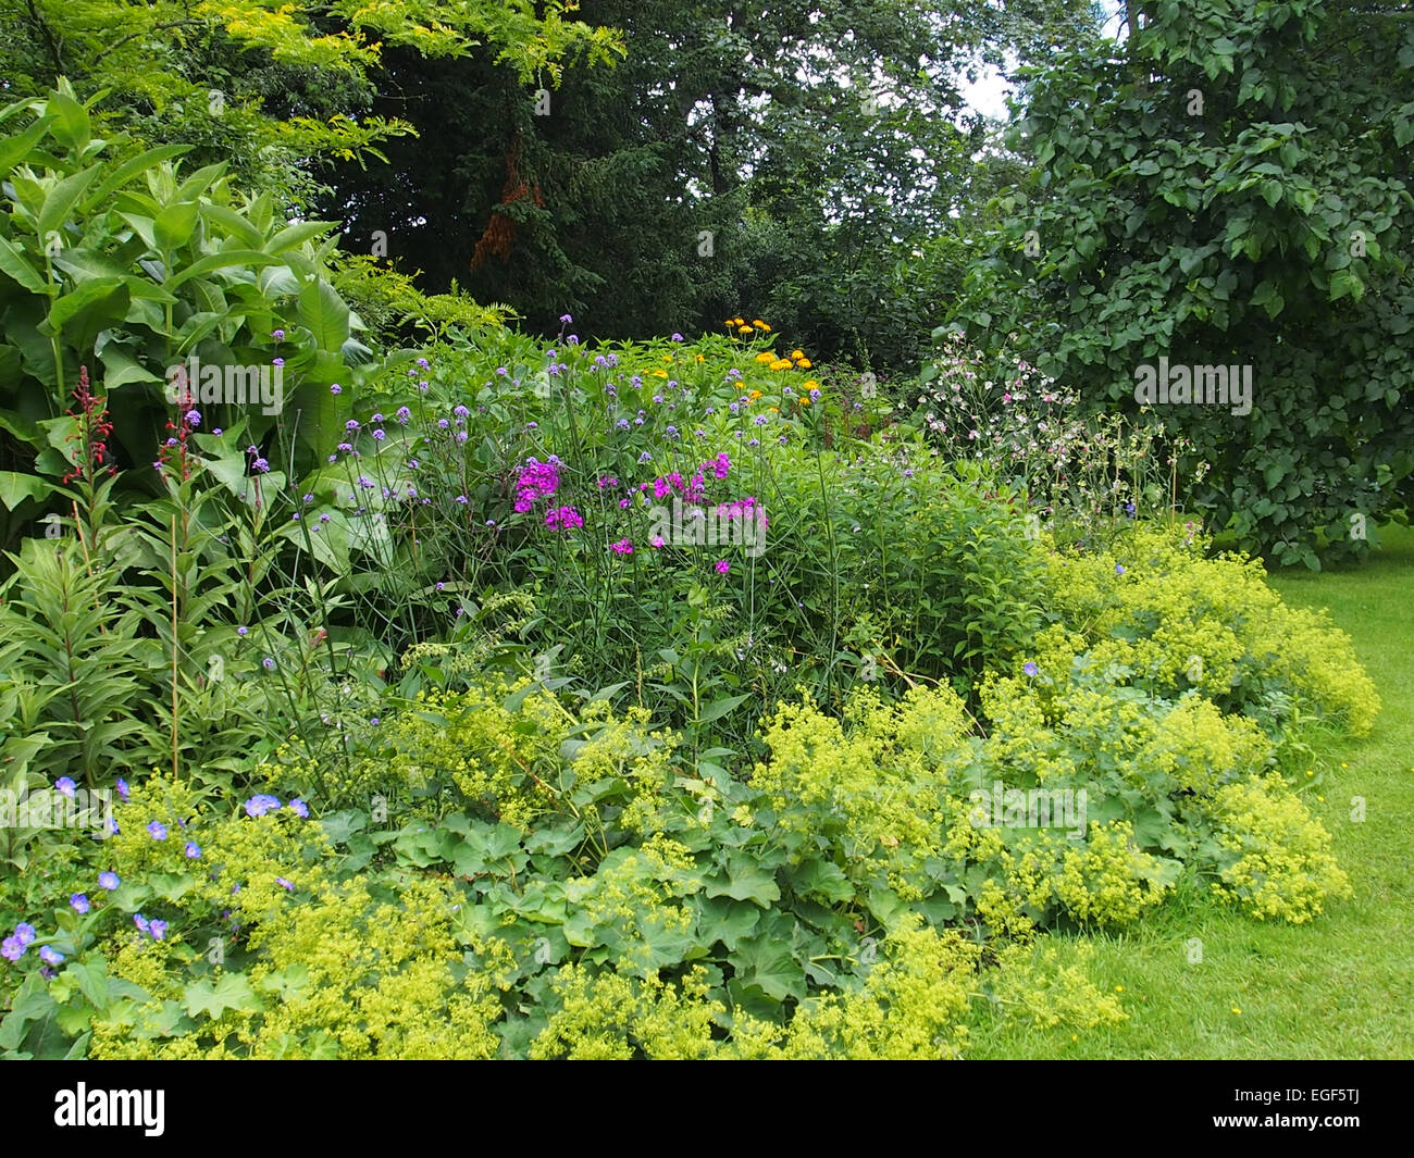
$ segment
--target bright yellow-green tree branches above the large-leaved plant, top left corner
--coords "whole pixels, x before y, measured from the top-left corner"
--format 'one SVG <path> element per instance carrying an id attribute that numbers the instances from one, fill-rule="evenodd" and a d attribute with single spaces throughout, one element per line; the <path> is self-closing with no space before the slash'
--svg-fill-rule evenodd
<path id="1" fill-rule="evenodd" d="M 137 140 L 185 146 L 198 164 L 228 163 L 242 184 L 270 191 L 284 208 L 318 191 L 311 160 L 385 160 L 387 141 L 411 131 L 402 116 L 369 110 L 386 52 L 464 59 L 484 45 L 519 83 L 542 75 L 559 83 L 570 61 L 608 64 L 624 54 L 614 30 L 567 20 L 573 7 L 7 0 L 11 35 L 0 59 L 11 93 L 40 96 L 62 76 L 86 96 L 109 92 L 109 119 Z"/>

